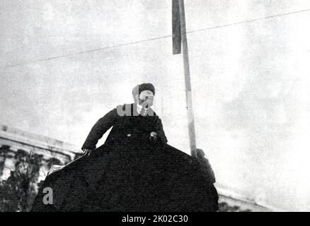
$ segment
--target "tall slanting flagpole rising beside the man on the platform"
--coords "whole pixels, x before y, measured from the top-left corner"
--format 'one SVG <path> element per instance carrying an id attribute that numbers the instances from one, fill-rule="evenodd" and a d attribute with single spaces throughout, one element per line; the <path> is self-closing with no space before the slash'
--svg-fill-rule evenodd
<path id="1" fill-rule="evenodd" d="M 188 132 L 190 136 L 190 154 L 194 157 L 197 157 L 192 87 L 190 83 L 190 62 L 188 59 L 188 40 L 186 36 L 186 24 L 185 24 L 184 0 L 179 0 L 178 2 L 180 7 L 180 32 L 182 40 L 183 66 L 185 76 L 186 108 L 188 113 Z"/>

